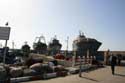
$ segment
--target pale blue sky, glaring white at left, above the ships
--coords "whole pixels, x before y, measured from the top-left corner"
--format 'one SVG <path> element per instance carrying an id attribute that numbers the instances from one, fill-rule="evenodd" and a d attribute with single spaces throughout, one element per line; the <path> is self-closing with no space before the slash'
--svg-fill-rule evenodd
<path id="1" fill-rule="evenodd" d="M 48 44 L 55 35 L 72 50 L 79 30 L 102 42 L 99 50 L 125 51 L 125 0 L 0 0 L 0 26 L 11 27 L 8 46 L 21 48 L 43 35 Z M 0 40 L 0 46 L 4 46 Z"/>

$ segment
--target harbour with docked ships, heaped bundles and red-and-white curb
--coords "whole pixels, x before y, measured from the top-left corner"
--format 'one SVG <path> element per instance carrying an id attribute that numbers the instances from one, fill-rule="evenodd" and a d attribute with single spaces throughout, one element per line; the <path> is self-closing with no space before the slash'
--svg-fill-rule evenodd
<path id="1" fill-rule="evenodd" d="M 102 43 L 96 39 L 86 38 L 83 32 L 79 32 L 73 41 L 73 51 L 70 53 L 68 50 L 61 51 L 62 44 L 56 36 L 48 46 L 44 36 L 36 37 L 36 40 L 33 50 L 30 50 L 27 42 L 18 52 L 15 49 L 10 49 L 11 52 L 9 52 L 7 47 L 1 50 L 0 79 L 2 83 L 65 78 L 74 74 L 82 77 L 82 74 L 86 72 L 107 68 L 107 65 L 110 65 L 109 57 L 113 54 L 108 50 L 101 55 L 98 48 Z M 4 53 L 6 56 L 3 56 Z M 121 61 L 124 60 L 124 53 L 114 55 L 117 58 L 121 55 Z M 117 65 L 121 66 L 121 63 Z"/>

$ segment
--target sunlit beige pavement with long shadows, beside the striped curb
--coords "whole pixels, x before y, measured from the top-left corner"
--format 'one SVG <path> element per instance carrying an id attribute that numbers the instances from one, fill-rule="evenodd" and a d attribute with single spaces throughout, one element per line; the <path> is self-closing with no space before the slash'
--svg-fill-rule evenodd
<path id="1" fill-rule="evenodd" d="M 29 81 L 22 83 L 125 83 L 125 66 L 116 66 L 115 75 L 111 74 L 110 66 L 88 72 L 48 80 Z"/>

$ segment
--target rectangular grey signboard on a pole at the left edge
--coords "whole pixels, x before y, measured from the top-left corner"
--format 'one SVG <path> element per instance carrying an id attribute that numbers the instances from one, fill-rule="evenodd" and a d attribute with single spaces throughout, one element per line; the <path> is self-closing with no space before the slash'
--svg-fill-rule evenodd
<path id="1" fill-rule="evenodd" d="M 0 26 L 0 40 L 9 40 L 10 27 Z"/>

